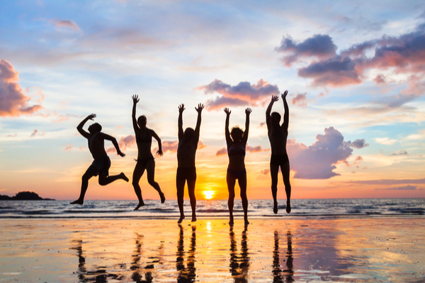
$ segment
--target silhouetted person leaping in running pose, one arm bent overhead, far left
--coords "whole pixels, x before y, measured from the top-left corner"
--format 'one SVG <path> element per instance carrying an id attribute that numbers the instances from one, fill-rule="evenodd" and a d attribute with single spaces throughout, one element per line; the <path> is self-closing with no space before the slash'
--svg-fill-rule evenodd
<path id="1" fill-rule="evenodd" d="M 96 118 L 96 114 L 91 114 L 87 116 L 79 125 L 77 126 L 77 130 L 81 133 L 84 138 L 86 138 L 89 142 L 89 150 L 91 156 L 94 158 L 94 162 L 91 163 L 90 167 L 86 170 L 83 177 L 81 178 L 81 193 L 79 199 L 77 201 L 72 201 L 71 204 L 83 204 L 84 203 L 84 195 L 86 194 L 87 187 L 89 187 L 89 179 L 91 177 L 99 175 L 99 184 L 101 186 L 105 186 L 109 183 L 114 182 L 118 179 L 123 179 L 125 182 L 128 182 L 128 177 L 125 176 L 123 172 L 119 175 L 109 175 L 109 167 L 111 167 L 111 160 L 105 151 L 105 140 L 111 140 L 113 146 L 117 150 L 118 155 L 124 157 L 125 154 L 121 152 L 120 147 L 118 146 L 117 140 L 111 135 L 107 135 L 106 133 L 102 133 L 102 126 L 98 123 L 91 124 L 89 126 L 89 133 L 84 131 L 84 124 Z"/>

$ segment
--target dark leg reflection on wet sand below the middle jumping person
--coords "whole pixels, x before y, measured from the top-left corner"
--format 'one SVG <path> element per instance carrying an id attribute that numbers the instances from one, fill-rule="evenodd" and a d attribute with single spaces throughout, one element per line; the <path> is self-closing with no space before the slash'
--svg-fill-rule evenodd
<path id="1" fill-rule="evenodd" d="M 186 266 L 184 265 L 184 230 L 179 225 L 179 241 L 177 242 L 177 259 L 176 270 L 179 272 L 177 282 L 195 282 L 196 267 L 195 267 L 195 251 L 196 251 L 196 226 L 192 226 L 191 245 L 188 250 Z"/>

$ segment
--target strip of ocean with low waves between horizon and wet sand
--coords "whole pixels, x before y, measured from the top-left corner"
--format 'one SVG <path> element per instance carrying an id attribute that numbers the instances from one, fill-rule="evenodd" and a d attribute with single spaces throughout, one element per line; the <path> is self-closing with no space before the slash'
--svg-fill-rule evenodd
<path id="1" fill-rule="evenodd" d="M 292 211 L 285 212 L 286 200 L 279 200 L 279 213 L 273 213 L 273 200 L 249 200 L 249 218 L 422 218 L 425 199 L 293 199 Z M 0 201 L 0 218 L 179 218 L 176 200 L 161 204 L 145 200 L 133 211 L 137 201 L 84 201 L 83 206 L 69 201 Z M 191 206 L 185 200 L 186 218 Z M 227 200 L 198 200 L 198 218 L 227 218 Z M 234 216 L 243 216 L 242 203 L 235 200 Z"/>

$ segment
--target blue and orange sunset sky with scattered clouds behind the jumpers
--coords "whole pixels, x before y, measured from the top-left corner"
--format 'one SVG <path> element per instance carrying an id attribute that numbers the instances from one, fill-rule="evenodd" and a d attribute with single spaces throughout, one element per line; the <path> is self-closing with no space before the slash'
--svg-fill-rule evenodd
<path id="1" fill-rule="evenodd" d="M 167 199 L 181 103 L 183 128 L 205 104 L 198 199 L 227 198 L 225 107 L 242 128 L 253 109 L 248 197 L 271 199 L 265 111 L 288 89 L 293 199 L 425 197 L 424 1 L 3 1 L 0 15 L 0 194 L 77 199 L 92 157 L 76 127 L 91 113 L 126 154 L 109 152 L 110 174 L 131 179 L 138 94 Z M 137 197 L 93 178 L 86 199 Z"/>

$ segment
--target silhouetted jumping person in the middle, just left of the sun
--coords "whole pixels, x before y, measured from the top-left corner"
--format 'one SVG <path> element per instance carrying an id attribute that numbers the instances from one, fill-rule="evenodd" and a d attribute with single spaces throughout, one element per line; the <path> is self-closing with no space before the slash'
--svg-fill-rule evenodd
<path id="1" fill-rule="evenodd" d="M 196 121 L 196 128 L 186 128 L 183 133 L 183 111 L 184 104 L 179 106 L 179 148 L 177 148 L 177 175 L 176 175 L 176 187 L 177 187 L 177 203 L 179 204 L 180 219 L 178 223 L 181 223 L 184 219 L 183 212 L 183 196 L 184 196 L 184 185 L 188 182 L 189 198 L 191 199 L 192 207 L 192 222 L 196 221 L 196 198 L 195 198 L 195 183 L 196 183 L 196 167 L 195 157 L 196 149 L 198 148 L 199 141 L 199 130 L 200 130 L 200 113 L 204 109 L 203 104 L 198 104 L 198 120 Z"/>

